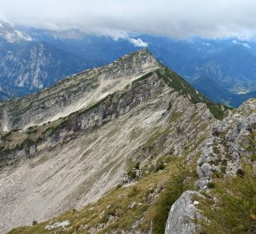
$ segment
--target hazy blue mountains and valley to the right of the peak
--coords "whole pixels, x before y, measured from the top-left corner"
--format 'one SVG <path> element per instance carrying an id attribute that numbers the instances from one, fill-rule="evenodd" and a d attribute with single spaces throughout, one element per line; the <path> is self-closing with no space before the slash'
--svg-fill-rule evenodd
<path id="1" fill-rule="evenodd" d="M 198 38 L 190 42 L 152 36 L 143 39 L 148 39 L 149 49 L 161 62 L 212 101 L 238 107 L 244 94 L 255 97 L 255 44 Z"/>

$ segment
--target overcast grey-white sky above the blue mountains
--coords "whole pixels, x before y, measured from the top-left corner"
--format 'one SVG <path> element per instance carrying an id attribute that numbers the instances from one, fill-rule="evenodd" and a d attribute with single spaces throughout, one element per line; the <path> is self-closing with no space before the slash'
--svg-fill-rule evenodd
<path id="1" fill-rule="evenodd" d="M 176 38 L 256 38 L 256 0 L 0 0 L 0 18 L 117 37 L 128 31 Z"/>

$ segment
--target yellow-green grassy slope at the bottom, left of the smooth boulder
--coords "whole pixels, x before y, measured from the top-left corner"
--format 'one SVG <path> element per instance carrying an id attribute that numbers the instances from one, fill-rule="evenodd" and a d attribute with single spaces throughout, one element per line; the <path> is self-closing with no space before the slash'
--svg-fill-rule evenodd
<path id="1" fill-rule="evenodd" d="M 54 218 L 58 222 L 70 221 L 69 229 L 56 228 L 54 231 L 87 233 L 98 227 L 96 233 L 121 233 L 123 230 L 131 230 L 132 225 L 141 220 L 136 230 L 148 233 L 152 222 L 153 232 L 163 233 L 171 205 L 182 192 L 192 189 L 197 179 L 195 159 L 186 168 L 181 158 L 167 156 L 164 160 L 166 166 L 163 171 L 154 171 L 135 185 L 117 186 L 99 201 L 85 206 L 81 211 L 69 211 Z M 183 184 L 186 178 L 189 178 L 188 182 Z M 135 207 L 129 208 L 128 206 L 134 202 Z M 47 224 L 49 221 L 30 227 L 20 227 L 9 233 L 51 233 L 52 231 L 45 229 Z"/>

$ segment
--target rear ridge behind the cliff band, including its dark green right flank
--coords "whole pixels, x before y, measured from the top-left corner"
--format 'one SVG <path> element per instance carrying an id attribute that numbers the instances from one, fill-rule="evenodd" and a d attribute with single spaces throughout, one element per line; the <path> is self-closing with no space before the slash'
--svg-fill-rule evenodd
<path id="1" fill-rule="evenodd" d="M 143 60 L 140 61 L 142 58 L 144 59 L 144 61 Z M 126 72 L 124 72 L 124 74 L 121 75 L 120 74 L 121 70 L 119 70 L 118 67 L 123 62 L 128 63 L 128 66 L 131 66 L 131 62 L 133 62 L 133 60 L 135 60 L 137 62 L 140 61 L 139 66 L 141 66 L 141 68 L 144 69 L 143 73 L 140 74 L 139 70 L 138 71 L 130 71 L 129 67 L 127 67 L 125 69 L 127 69 L 128 74 L 126 74 Z M 149 65 L 143 65 L 143 62 L 146 62 L 146 63 L 149 62 Z M 143 66 L 153 66 L 153 67 L 152 68 L 146 68 L 146 67 L 143 68 Z M 141 69 L 141 68 L 139 68 L 139 69 Z M 158 70 L 157 73 L 168 83 L 169 86 L 173 87 L 176 91 L 181 92 L 181 94 L 187 95 L 194 103 L 200 102 L 200 101 L 209 103 L 208 107 L 210 107 L 211 111 L 214 112 L 214 110 L 213 110 L 214 105 L 210 104 L 210 101 L 208 101 L 207 98 L 205 98 L 204 96 L 199 94 L 197 91 L 194 91 L 194 88 L 192 88 L 187 83 L 187 81 L 184 81 L 181 77 L 179 77 L 179 75 L 177 75 L 174 72 L 169 72 L 169 69 L 166 67 L 162 67 L 161 63 L 157 62 L 154 59 L 154 56 L 148 51 L 148 49 L 141 49 L 141 50 L 139 50 L 139 52 L 137 51 L 137 52 L 133 52 L 131 54 L 125 55 L 125 56 L 121 57 L 121 59 L 119 59 L 113 63 L 110 63 L 109 65 L 107 65 L 105 67 L 92 68 L 92 69 L 84 71 L 80 74 L 72 75 L 69 77 L 69 79 L 59 81 L 52 88 L 47 88 L 39 93 L 25 96 L 20 99 L 14 99 L 14 100 L 4 102 L 5 104 L 2 103 L 0 106 L 0 108 L 1 108 L 0 113 L 3 114 L 3 110 L 5 110 L 7 113 L 10 112 L 9 123 L 6 125 L 8 127 L 7 128 L 5 127 L 5 129 L 9 129 L 9 127 L 10 127 L 10 129 L 12 128 L 11 122 L 14 123 L 14 127 L 16 127 L 16 128 L 24 127 L 24 126 L 30 127 L 31 125 L 36 124 L 35 120 L 33 120 L 33 118 L 31 117 L 31 114 L 29 116 L 29 120 L 26 121 L 24 118 L 22 118 L 22 121 L 25 121 L 25 122 L 21 123 L 21 125 L 18 124 L 18 122 L 20 120 L 17 119 L 16 114 L 11 114 L 12 112 L 18 111 L 19 115 L 20 115 L 19 118 L 21 118 L 21 114 L 22 113 L 28 114 L 28 107 L 29 108 L 32 107 L 31 111 L 35 115 L 36 108 L 39 106 L 39 107 L 43 108 L 43 113 L 47 114 L 48 119 L 44 120 L 43 119 L 44 117 L 40 116 L 40 113 L 42 113 L 42 111 L 40 111 L 38 109 L 37 109 L 37 115 L 39 114 L 39 118 L 38 117 L 35 117 L 35 118 L 37 118 L 36 119 L 37 122 L 39 121 L 41 124 L 43 124 L 44 122 L 56 120 L 58 118 L 69 115 L 72 112 L 75 112 L 81 108 L 89 107 L 96 101 L 100 101 L 100 99 L 105 97 L 109 92 L 111 94 L 117 90 L 116 88 L 124 88 L 131 81 L 135 81 L 135 79 L 137 79 L 138 77 L 143 76 L 153 70 L 156 70 L 157 68 L 163 68 L 162 71 Z M 125 76 L 129 75 L 129 73 L 131 73 L 131 72 L 134 72 L 135 74 L 138 73 L 138 75 L 134 75 L 135 77 L 132 78 L 131 81 L 128 81 L 127 78 L 125 78 Z M 111 79 L 108 79 L 108 75 L 106 77 L 104 75 L 102 76 L 102 73 L 106 73 L 106 74 L 110 73 Z M 89 75 L 89 78 L 84 78 L 84 77 L 87 77 L 87 75 Z M 117 80 L 115 80 L 116 75 L 120 76 L 121 78 L 119 77 Z M 98 78 L 98 76 L 100 78 Z M 170 79 L 166 78 L 167 76 L 173 76 L 173 78 L 170 78 Z M 102 83 L 102 81 L 104 81 L 104 83 Z M 89 88 L 89 86 L 86 85 L 86 83 L 84 83 L 84 82 L 89 83 L 91 88 Z M 116 83 L 118 84 L 117 86 L 116 86 Z M 71 94 L 69 94 L 69 92 L 68 92 L 68 96 L 66 97 L 65 95 L 67 95 L 67 94 L 64 94 L 65 89 L 66 89 L 65 87 L 69 87 L 71 85 L 75 88 L 76 91 L 72 91 Z M 112 90 L 111 86 L 113 87 L 113 85 L 114 85 L 114 89 Z M 115 86 L 116 86 L 116 88 L 115 88 Z M 84 91 L 86 92 L 86 94 L 83 94 Z M 92 92 L 93 92 L 93 94 L 92 94 Z M 44 97 L 45 96 L 47 97 L 48 95 L 50 95 L 51 97 L 56 96 L 58 98 L 62 98 L 61 103 L 59 103 L 60 101 L 56 101 L 54 99 L 54 101 L 51 103 L 50 106 L 48 104 L 49 107 L 47 107 L 47 105 L 45 105 L 45 104 L 42 105 L 42 103 L 45 103 L 45 101 L 47 101 L 47 100 L 45 100 Z M 64 104 L 65 101 L 70 100 L 70 97 L 69 97 L 70 95 L 73 95 L 72 103 L 68 103 L 67 105 Z M 99 98 L 99 99 L 97 99 L 97 98 Z M 74 101 L 75 101 L 75 103 L 74 103 Z M 23 104 L 21 105 L 19 103 L 23 103 Z M 4 105 L 6 105 L 8 107 L 4 107 Z M 53 105 L 55 105 L 56 107 L 62 106 L 61 107 L 62 114 L 57 114 L 56 116 L 49 118 L 49 116 L 51 115 L 50 113 L 55 111 L 55 110 L 50 110 L 50 108 L 53 108 Z M 69 109 L 69 105 L 72 106 L 71 109 Z M 217 109 L 218 109 L 218 105 L 215 105 L 215 107 L 217 107 Z M 220 112 L 221 112 L 221 105 L 219 105 L 219 107 L 220 107 Z M 12 110 L 11 110 L 11 108 L 12 108 Z M 48 109 L 49 109 L 49 111 L 48 111 Z M 222 118 L 221 115 L 224 114 L 225 109 L 226 109 L 226 107 L 223 108 L 222 114 L 220 114 L 220 116 L 217 118 Z M 2 115 L 0 114 L 0 116 L 2 116 Z M 12 116 L 15 116 L 14 120 L 12 120 L 12 118 L 13 118 Z M 2 130 L 4 128 L 3 122 L 4 122 L 3 120 L 0 121 Z"/>

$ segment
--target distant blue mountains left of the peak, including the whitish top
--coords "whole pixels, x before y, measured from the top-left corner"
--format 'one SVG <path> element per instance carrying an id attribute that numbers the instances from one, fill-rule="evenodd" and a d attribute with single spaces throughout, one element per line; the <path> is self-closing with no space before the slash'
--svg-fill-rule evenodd
<path id="1" fill-rule="evenodd" d="M 82 57 L 37 42 L 13 29 L 0 27 L 0 100 L 30 94 L 91 67 Z"/>

